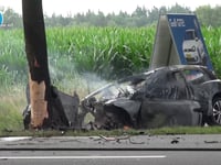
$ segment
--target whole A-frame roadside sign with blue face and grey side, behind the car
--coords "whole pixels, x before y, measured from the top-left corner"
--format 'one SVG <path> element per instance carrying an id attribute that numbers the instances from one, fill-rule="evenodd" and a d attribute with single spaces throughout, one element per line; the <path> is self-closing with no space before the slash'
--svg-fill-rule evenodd
<path id="1" fill-rule="evenodd" d="M 159 16 L 154 53 L 149 68 L 169 65 L 203 65 L 213 70 L 212 63 L 193 13 Z"/>

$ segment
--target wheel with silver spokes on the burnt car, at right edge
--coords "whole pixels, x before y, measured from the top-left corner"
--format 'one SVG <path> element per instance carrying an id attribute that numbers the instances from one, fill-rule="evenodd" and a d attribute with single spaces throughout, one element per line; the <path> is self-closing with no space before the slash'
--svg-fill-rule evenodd
<path id="1" fill-rule="evenodd" d="M 217 97 L 212 101 L 212 124 L 221 125 L 221 98 Z"/>

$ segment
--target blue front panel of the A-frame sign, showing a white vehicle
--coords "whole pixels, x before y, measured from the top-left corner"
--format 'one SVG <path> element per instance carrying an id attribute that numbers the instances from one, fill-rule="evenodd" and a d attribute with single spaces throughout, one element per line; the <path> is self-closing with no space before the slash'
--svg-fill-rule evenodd
<path id="1" fill-rule="evenodd" d="M 194 14 L 167 14 L 167 18 L 181 63 L 204 65 L 212 70 L 197 16 Z"/>

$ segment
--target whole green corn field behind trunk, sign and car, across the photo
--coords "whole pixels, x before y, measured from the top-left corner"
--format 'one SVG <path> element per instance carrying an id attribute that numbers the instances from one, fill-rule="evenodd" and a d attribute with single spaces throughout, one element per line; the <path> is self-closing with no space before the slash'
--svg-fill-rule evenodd
<path id="1" fill-rule="evenodd" d="M 80 76 L 94 75 L 102 81 L 147 70 L 155 32 L 156 26 L 46 29 L 52 82 L 66 88 L 73 81 L 81 86 Z M 221 76 L 221 28 L 202 28 L 202 33 L 215 73 Z M 1 30 L 0 40 L 0 90 L 25 84 L 23 30 Z"/>

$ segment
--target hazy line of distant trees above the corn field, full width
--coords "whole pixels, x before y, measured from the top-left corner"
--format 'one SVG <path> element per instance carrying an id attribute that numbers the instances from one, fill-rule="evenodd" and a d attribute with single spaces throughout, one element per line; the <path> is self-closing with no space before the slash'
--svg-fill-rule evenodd
<path id="1" fill-rule="evenodd" d="M 56 15 L 53 13 L 51 16 L 44 15 L 44 22 L 46 26 L 124 26 L 124 28 L 141 28 L 156 24 L 159 14 L 166 13 L 191 13 L 194 12 L 199 22 L 203 25 L 220 26 L 221 25 L 221 7 L 215 6 L 211 8 L 210 6 L 200 6 L 196 11 L 191 11 L 188 7 L 182 7 L 178 3 L 171 6 L 170 8 L 162 6 L 160 8 L 146 9 L 145 7 L 137 7 L 135 11 L 130 14 L 125 11 L 119 13 L 108 13 L 104 14 L 102 11 L 95 13 L 88 10 L 86 13 L 76 13 Z M 4 9 L 0 7 L 0 11 L 4 15 L 3 29 L 11 28 L 22 28 L 22 16 L 15 13 L 12 9 Z"/>

